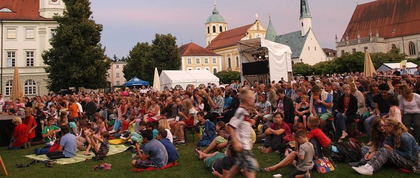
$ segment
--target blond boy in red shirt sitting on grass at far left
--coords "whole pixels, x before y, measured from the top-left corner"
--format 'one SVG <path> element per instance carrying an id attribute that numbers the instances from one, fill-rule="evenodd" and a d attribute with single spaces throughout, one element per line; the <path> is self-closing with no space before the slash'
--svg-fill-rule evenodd
<path id="1" fill-rule="evenodd" d="M 22 119 L 20 117 L 13 118 L 12 123 L 15 125 L 15 129 L 13 130 L 12 139 L 10 140 L 8 149 L 28 149 L 31 146 L 31 144 L 28 142 L 28 127 L 22 124 Z"/>

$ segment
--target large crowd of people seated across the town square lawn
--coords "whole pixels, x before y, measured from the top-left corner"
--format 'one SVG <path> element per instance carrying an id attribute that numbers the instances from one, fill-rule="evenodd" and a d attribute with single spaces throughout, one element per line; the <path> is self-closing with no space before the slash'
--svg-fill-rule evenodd
<path id="1" fill-rule="evenodd" d="M 257 171 L 293 165 L 290 177 L 311 177 L 313 159 L 325 157 L 336 166 L 332 143 L 343 142 L 350 135 L 347 126 L 355 124 L 369 138 L 362 160 L 350 164 L 355 171 L 372 175 L 390 163 L 418 173 L 420 66 L 417 69 L 417 76 L 350 72 L 270 84 L 232 80 L 185 90 L 142 87 L 24 98 L 5 107 L 15 114 L 24 106 L 25 115 L 23 122 L 13 119 L 9 149 L 45 144 L 51 159 L 73 157 L 77 150 L 86 155 L 92 150 L 93 159 L 104 159 L 109 140 L 119 138 L 136 147 L 133 167 L 161 168 L 178 159 L 174 145 L 183 149 L 193 144 L 185 136 L 192 130 L 199 137 L 197 146 L 206 147 L 194 149 L 195 154 L 216 176 L 230 178 L 240 170 L 255 177 Z M 334 137 L 327 136 L 328 122 L 336 125 Z M 277 151 L 286 158 L 260 169 L 252 153 L 255 142 L 264 142 L 258 147 L 262 153 Z"/>

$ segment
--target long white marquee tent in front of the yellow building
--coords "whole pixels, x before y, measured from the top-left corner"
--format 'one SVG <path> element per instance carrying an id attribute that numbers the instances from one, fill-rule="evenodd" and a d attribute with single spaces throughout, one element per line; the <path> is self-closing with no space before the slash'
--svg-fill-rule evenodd
<path id="1" fill-rule="evenodd" d="M 162 71 L 160 74 L 160 87 L 165 84 L 168 88 L 187 89 L 194 85 L 195 87 L 206 87 L 207 84 L 219 84 L 219 78 L 207 70 L 188 70 L 188 71 Z"/>

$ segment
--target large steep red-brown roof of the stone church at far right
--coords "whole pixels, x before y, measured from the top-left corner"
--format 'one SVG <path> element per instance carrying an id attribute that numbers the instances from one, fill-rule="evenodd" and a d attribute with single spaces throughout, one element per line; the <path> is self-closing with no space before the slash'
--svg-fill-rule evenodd
<path id="1" fill-rule="evenodd" d="M 352 19 L 344 32 L 349 39 L 373 36 L 392 38 L 420 33 L 420 0 L 376 0 L 357 5 Z M 395 32 L 393 33 L 393 30 Z"/>

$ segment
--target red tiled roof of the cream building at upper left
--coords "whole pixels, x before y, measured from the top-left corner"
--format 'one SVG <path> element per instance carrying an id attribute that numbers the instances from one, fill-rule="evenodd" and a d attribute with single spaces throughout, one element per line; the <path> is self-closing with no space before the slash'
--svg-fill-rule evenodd
<path id="1" fill-rule="evenodd" d="M 0 12 L 1 20 L 53 20 L 39 16 L 39 0 L 0 0 L 0 9 L 3 8 L 13 13 Z"/>

